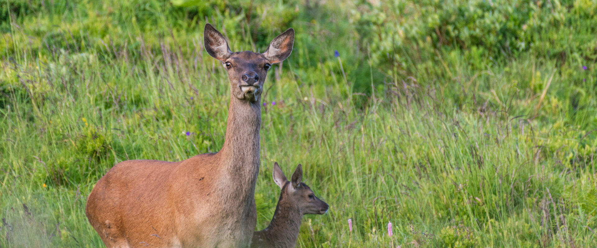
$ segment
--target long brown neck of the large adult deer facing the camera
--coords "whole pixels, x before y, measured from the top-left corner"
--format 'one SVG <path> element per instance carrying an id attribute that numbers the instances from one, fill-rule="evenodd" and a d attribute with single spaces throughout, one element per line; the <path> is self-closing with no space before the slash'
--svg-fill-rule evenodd
<path id="1" fill-rule="evenodd" d="M 220 150 L 224 173 L 241 188 L 255 190 L 259 172 L 260 99 L 256 102 L 230 97 L 224 146 Z"/>

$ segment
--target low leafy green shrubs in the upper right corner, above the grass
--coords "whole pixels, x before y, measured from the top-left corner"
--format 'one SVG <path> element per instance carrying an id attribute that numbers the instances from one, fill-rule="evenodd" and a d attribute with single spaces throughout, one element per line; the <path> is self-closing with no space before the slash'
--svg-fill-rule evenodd
<path id="1" fill-rule="evenodd" d="M 482 49 L 494 58 L 529 50 L 547 56 L 563 56 L 562 52 L 578 52 L 587 59 L 597 56 L 596 37 L 583 36 L 583 42 L 571 43 L 578 40 L 575 29 L 597 32 L 595 1 L 372 2 L 359 2 L 350 21 L 371 45 L 375 61 L 395 59 L 405 64 L 408 56 L 417 56 L 420 50 L 432 52 L 443 46 Z"/>

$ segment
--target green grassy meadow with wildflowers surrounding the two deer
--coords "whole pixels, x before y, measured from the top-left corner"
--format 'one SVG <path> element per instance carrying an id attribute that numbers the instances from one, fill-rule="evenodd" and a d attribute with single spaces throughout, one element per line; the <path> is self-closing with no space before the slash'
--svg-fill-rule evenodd
<path id="1" fill-rule="evenodd" d="M 257 230 L 277 161 L 330 204 L 297 247 L 597 247 L 596 0 L 0 11 L 0 247 L 102 247 L 85 202 L 108 169 L 220 149 L 229 82 L 207 22 L 233 51 L 297 34 L 264 86 Z"/>

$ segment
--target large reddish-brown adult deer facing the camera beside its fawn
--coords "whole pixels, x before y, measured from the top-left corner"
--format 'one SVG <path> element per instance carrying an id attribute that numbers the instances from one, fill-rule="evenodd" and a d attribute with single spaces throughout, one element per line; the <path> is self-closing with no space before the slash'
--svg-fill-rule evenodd
<path id="1" fill-rule="evenodd" d="M 205 49 L 230 80 L 224 145 L 180 162 L 120 162 L 91 191 L 86 214 L 107 247 L 248 247 L 257 212 L 260 98 L 267 70 L 293 49 L 294 30 L 263 54 L 231 52 L 205 25 Z"/>

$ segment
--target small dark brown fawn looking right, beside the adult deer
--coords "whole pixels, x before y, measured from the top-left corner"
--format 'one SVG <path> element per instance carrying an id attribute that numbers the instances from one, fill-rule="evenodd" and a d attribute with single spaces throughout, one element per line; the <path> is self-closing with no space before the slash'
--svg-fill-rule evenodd
<path id="1" fill-rule="evenodd" d="M 299 164 L 292 181 L 288 181 L 276 162 L 273 165 L 273 181 L 282 193 L 269 227 L 253 233 L 251 248 L 294 247 L 300 231 L 303 215 L 321 215 L 328 211 L 328 204 L 320 200 L 307 184 L 301 183 L 303 169 Z"/>

